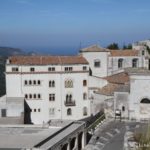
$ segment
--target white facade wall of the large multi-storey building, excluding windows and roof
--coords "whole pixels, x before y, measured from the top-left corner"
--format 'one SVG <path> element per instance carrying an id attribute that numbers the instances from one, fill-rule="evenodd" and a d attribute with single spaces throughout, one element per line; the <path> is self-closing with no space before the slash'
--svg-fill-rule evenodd
<path id="1" fill-rule="evenodd" d="M 90 101 L 83 100 L 83 93 L 88 97 L 88 65 L 70 65 L 73 72 L 64 72 L 65 66 L 55 66 L 57 71 L 48 72 L 48 66 L 19 66 L 19 72 L 12 72 L 13 65 L 6 66 L 7 97 L 21 97 L 25 94 L 41 94 L 41 99 L 26 99 L 31 112 L 31 120 L 35 124 L 47 122 L 50 119 L 78 120 L 91 115 Z M 66 65 L 66 67 L 70 67 Z M 87 71 L 83 71 L 87 66 Z M 30 67 L 35 72 L 30 72 Z M 59 70 L 59 71 L 58 71 Z M 75 72 L 74 72 L 75 71 Z M 65 80 L 73 80 L 73 88 L 65 88 Z M 40 85 L 25 85 L 24 81 L 40 80 Z M 55 87 L 49 87 L 49 81 L 55 81 Z M 83 80 L 87 80 L 87 86 L 83 86 Z M 65 106 L 66 94 L 71 93 L 76 106 Z M 49 101 L 49 94 L 55 94 L 55 101 Z M 83 116 L 83 107 L 87 107 L 88 114 Z M 54 108 L 54 115 L 49 114 L 49 109 Z M 72 115 L 67 116 L 67 109 L 72 109 Z M 36 112 L 34 112 L 36 109 Z M 40 109 L 40 112 L 38 112 Z"/>

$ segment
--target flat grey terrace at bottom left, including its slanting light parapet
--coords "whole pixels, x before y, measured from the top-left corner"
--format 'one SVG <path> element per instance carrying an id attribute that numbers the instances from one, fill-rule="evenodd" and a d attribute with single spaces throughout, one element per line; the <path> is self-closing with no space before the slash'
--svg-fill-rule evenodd
<path id="1" fill-rule="evenodd" d="M 84 122 L 52 121 L 48 125 L 0 125 L 0 149 L 48 149 L 72 134 Z"/>

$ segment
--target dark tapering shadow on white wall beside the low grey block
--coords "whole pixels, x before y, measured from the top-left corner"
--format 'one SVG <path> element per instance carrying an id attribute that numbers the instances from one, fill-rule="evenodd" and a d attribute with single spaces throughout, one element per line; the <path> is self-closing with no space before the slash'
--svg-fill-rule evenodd
<path id="1" fill-rule="evenodd" d="M 31 109 L 26 101 L 24 101 L 24 124 L 33 124 L 31 122 Z"/>

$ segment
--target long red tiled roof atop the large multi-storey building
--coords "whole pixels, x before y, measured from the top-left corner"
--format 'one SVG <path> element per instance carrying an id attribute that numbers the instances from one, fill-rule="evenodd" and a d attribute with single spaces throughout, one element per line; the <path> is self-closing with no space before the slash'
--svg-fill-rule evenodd
<path id="1" fill-rule="evenodd" d="M 82 56 L 12 56 L 9 61 L 16 65 L 88 64 Z"/>

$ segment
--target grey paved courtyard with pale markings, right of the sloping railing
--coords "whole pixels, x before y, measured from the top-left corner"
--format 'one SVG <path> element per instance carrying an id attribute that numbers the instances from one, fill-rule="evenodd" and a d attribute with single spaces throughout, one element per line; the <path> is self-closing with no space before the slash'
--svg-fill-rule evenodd
<path id="1" fill-rule="evenodd" d="M 134 131 L 142 123 L 108 121 L 99 126 L 92 136 L 86 150 L 123 150 L 125 131 Z"/>

